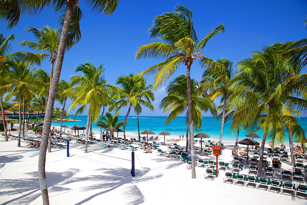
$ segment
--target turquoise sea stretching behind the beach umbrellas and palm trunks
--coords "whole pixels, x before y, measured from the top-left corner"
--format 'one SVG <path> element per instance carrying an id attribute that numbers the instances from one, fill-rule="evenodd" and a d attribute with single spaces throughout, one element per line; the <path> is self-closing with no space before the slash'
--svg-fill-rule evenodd
<path id="1" fill-rule="evenodd" d="M 68 115 L 69 118 L 73 119 L 74 115 Z M 172 135 L 170 137 L 176 137 L 179 138 L 179 134 L 184 133 L 186 134 L 186 125 L 185 125 L 185 117 L 177 117 L 176 119 L 173 119 L 169 124 L 165 125 L 165 120 L 167 117 L 159 117 L 159 116 L 140 116 L 139 117 L 139 123 L 140 123 L 140 132 L 143 130 L 149 129 L 153 131 L 155 136 L 158 136 L 160 132 L 163 130 L 168 131 Z M 87 121 L 87 115 L 78 115 L 76 117 L 76 120 L 80 120 L 77 122 L 63 122 L 63 126 L 67 125 L 68 127 L 72 127 L 74 125 L 79 125 L 80 127 L 85 126 L 86 127 L 86 121 Z M 120 116 L 120 121 L 124 120 L 124 116 Z M 297 119 L 300 123 L 301 127 L 304 129 L 305 132 L 307 132 L 307 117 L 301 117 L 300 119 Z M 136 116 L 129 116 L 127 119 L 128 124 L 126 124 L 126 135 L 128 136 L 138 136 L 138 126 L 137 126 L 137 117 Z M 223 140 L 224 141 L 235 141 L 236 133 L 231 133 L 230 131 L 230 125 L 231 121 L 228 121 L 224 124 L 224 131 L 223 131 Z M 52 122 L 51 126 L 60 127 L 60 122 Z M 69 129 L 69 128 L 66 128 Z M 92 129 L 95 132 L 100 133 L 100 127 L 95 126 L 95 123 L 92 125 Z M 121 127 L 122 129 L 122 127 Z M 220 131 L 221 131 L 221 120 L 216 120 L 216 118 L 213 117 L 203 117 L 202 120 L 202 127 L 199 132 L 206 133 L 210 135 L 210 138 L 212 140 L 217 140 L 220 137 Z M 80 133 L 83 131 L 80 130 Z M 195 131 L 194 134 L 197 134 L 198 132 Z M 239 140 L 245 139 L 246 135 L 245 131 L 240 132 L 239 134 Z M 263 136 L 262 131 L 257 132 L 258 135 Z M 117 133 L 115 133 L 115 136 Z M 286 139 L 285 142 L 289 141 L 286 133 Z M 119 133 L 119 136 L 122 136 L 122 133 Z M 261 141 L 261 138 L 257 139 L 256 141 Z"/>

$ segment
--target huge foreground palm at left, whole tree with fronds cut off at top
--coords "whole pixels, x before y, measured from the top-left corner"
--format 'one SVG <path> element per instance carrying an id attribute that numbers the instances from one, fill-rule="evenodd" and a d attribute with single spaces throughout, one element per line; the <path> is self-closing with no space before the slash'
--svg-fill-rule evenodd
<path id="1" fill-rule="evenodd" d="M 42 9 L 48 7 L 51 1 L 41 1 L 41 0 L 25 0 L 25 1 L 17 1 L 13 0 L 7 2 L 6 0 L 0 0 L 0 19 L 2 21 L 7 21 L 8 28 L 12 28 L 17 25 L 19 18 L 21 15 L 36 15 L 40 13 Z M 105 15 L 111 15 L 119 1 L 118 0 L 93 0 L 93 1 L 85 1 L 85 4 L 91 8 L 92 12 L 96 12 L 97 14 L 103 13 Z M 60 80 L 60 74 L 64 59 L 65 49 L 67 47 L 67 39 L 71 40 L 80 40 L 81 33 L 79 27 L 79 21 L 82 18 L 82 12 L 79 8 L 79 1 L 78 0 L 68 0 L 68 1 L 54 1 L 52 3 L 55 10 L 57 12 L 62 12 L 63 15 L 61 16 L 61 37 L 60 43 L 58 47 L 58 55 L 57 61 L 54 69 L 54 73 L 52 75 L 52 84 L 50 85 L 50 95 L 48 106 L 46 108 L 45 114 L 45 121 L 42 133 L 42 142 L 40 148 L 40 155 L 39 155 L 39 179 L 41 180 L 41 193 L 43 197 L 43 203 L 49 204 L 49 197 L 48 197 L 48 189 L 47 189 L 47 182 L 45 176 L 45 150 L 47 149 L 47 139 L 49 137 L 49 131 L 51 127 L 51 120 L 53 114 L 53 105 L 56 98 L 56 91 L 57 86 Z"/>

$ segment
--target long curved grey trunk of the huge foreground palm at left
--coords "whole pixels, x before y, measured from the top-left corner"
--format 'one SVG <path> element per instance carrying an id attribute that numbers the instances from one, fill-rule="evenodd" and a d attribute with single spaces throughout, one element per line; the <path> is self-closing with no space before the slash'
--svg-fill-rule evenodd
<path id="1" fill-rule="evenodd" d="M 56 65 L 54 69 L 54 73 L 52 76 L 52 83 L 49 87 L 49 102 L 46 108 L 45 120 L 44 120 L 44 127 L 41 137 L 41 148 L 38 158 L 38 176 L 40 179 L 40 188 L 41 188 L 41 195 L 43 198 L 43 204 L 49 205 L 49 196 L 48 196 L 48 189 L 47 189 L 47 182 L 46 182 L 46 175 L 45 175 L 45 161 L 46 161 L 46 149 L 47 149 L 47 141 L 49 137 L 49 131 L 51 127 L 51 120 L 53 114 L 53 105 L 56 97 L 57 86 L 60 79 L 64 53 L 66 49 L 66 41 L 67 35 L 69 32 L 69 27 L 72 19 L 72 10 L 76 6 L 78 1 L 67 1 L 66 2 L 66 12 L 65 12 L 65 19 L 63 23 L 59 48 L 58 48 L 58 55 L 56 60 Z"/>

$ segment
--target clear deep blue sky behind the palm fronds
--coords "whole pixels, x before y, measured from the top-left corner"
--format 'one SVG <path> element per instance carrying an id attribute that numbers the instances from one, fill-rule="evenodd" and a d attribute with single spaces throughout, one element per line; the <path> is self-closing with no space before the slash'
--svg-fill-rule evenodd
<path id="1" fill-rule="evenodd" d="M 204 56 L 211 59 L 227 58 L 234 62 L 249 57 L 252 51 L 274 42 L 297 41 L 307 37 L 303 20 L 307 15 L 307 2 L 292 1 L 163 1 L 163 0 L 122 0 L 111 16 L 90 13 L 80 1 L 84 19 L 81 21 L 82 39 L 65 54 L 61 79 L 69 80 L 75 74 L 76 65 L 91 61 L 97 66 L 104 64 L 105 76 L 114 84 L 119 75 L 137 74 L 161 60 L 134 60 L 139 46 L 151 42 L 147 30 L 152 25 L 153 17 L 164 12 L 174 11 L 176 4 L 181 4 L 193 11 L 194 28 L 199 40 L 203 39 L 219 23 L 224 24 L 225 33 L 211 39 L 204 48 Z M 57 27 L 56 16 L 51 9 L 45 9 L 36 17 L 22 17 L 14 29 L 7 30 L 1 22 L 0 32 L 5 37 L 15 34 L 12 42 L 13 52 L 30 51 L 19 46 L 22 40 L 35 41 L 25 27 L 42 28 L 44 25 Z M 38 52 L 37 52 L 38 53 Z M 41 69 L 50 72 L 50 62 L 45 60 Z M 180 66 L 173 77 L 183 73 L 186 68 Z M 305 71 L 304 71 L 305 73 Z M 197 63 L 192 65 L 191 77 L 200 79 L 202 68 Z M 152 83 L 153 76 L 148 78 Z M 167 85 L 167 83 L 165 84 Z M 159 101 L 166 95 L 164 86 L 155 93 L 154 112 L 144 109 L 143 116 L 165 116 L 158 109 Z M 219 103 L 217 100 L 216 103 Z M 68 102 L 67 106 L 70 106 Z M 60 106 L 58 102 L 55 107 Z M 66 110 L 68 108 L 66 107 Z M 127 108 L 120 110 L 125 115 Z M 72 111 L 70 114 L 74 114 Z M 133 111 L 130 115 L 134 115 Z M 210 114 L 204 114 L 210 116 Z"/>

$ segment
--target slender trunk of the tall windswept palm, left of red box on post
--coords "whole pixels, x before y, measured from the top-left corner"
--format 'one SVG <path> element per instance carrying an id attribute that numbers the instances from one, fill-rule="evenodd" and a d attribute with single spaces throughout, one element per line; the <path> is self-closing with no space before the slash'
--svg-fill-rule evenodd
<path id="1" fill-rule="evenodd" d="M 192 166 L 192 178 L 196 178 L 195 172 L 195 150 L 194 150 L 194 122 L 193 122 L 193 113 L 192 113 L 192 86 L 191 86 L 191 64 L 187 65 L 187 88 L 188 88 L 188 118 L 190 125 L 190 142 L 191 142 L 191 166 Z"/>

